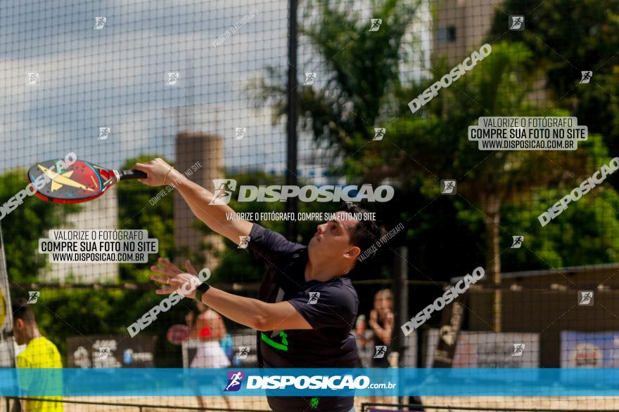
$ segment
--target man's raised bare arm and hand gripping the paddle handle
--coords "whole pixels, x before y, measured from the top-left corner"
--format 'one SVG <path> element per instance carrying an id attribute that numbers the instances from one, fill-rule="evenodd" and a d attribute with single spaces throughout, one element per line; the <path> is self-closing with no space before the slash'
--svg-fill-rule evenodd
<path id="1" fill-rule="evenodd" d="M 140 182 L 149 186 L 172 185 L 175 187 L 196 218 L 202 220 L 211 230 L 227 237 L 235 244 L 239 237 L 248 236 L 253 223 L 238 220 L 236 212 L 226 204 L 210 204 L 214 195 L 204 187 L 191 182 L 183 173 L 172 168 L 163 159 L 157 158 L 148 163 L 136 163 L 134 169 L 148 175 Z M 234 219 L 228 220 L 234 215 Z"/>

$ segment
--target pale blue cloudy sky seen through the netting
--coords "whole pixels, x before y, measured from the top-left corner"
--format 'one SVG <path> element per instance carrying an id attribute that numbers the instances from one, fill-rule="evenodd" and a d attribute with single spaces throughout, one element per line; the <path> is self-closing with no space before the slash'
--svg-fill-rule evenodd
<path id="1" fill-rule="evenodd" d="M 269 108 L 255 109 L 243 91 L 264 67 L 286 67 L 287 4 L 3 1 L 1 168 L 27 167 L 68 152 L 108 167 L 141 152 L 174 157 L 174 136 L 186 123 L 184 107 L 191 101 L 189 127 L 222 135 L 226 166 L 283 161 L 285 125 L 272 126 Z M 359 8 L 362 4 L 366 1 Z M 254 10 L 247 24 L 212 46 Z M 102 16 L 106 27 L 94 30 L 95 18 Z M 305 67 L 318 68 L 309 48 L 300 48 L 299 60 L 299 79 Z M 37 86 L 26 84 L 27 72 L 39 72 Z M 180 73 L 178 86 L 167 86 L 167 72 Z M 98 140 L 103 126 L 111 128 L 110 136 Z M 248 128 L 248 137 L 234 140 L 235 127 Z M 309 152 L 307 137 L 300 151 Z"/>

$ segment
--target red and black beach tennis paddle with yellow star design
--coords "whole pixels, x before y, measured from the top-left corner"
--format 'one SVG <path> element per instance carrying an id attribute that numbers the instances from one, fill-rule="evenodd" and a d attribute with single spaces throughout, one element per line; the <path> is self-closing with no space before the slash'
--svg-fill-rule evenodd
<path id="1" fill-rule="evenodd" d="M 28 180 L 31 183 L 39 182 L 39 189 L 35 193 L 37 197 L 54 203 L 82 203 L 101 196 L 120 180 L 147 177 L 141 171 L 117 171 L 83 160 L 75 160 L 75 163 L 66 167 L 63 165 L 66 165 L 63 161 L 54 159 L 42 161 L 30 168 Z"/>

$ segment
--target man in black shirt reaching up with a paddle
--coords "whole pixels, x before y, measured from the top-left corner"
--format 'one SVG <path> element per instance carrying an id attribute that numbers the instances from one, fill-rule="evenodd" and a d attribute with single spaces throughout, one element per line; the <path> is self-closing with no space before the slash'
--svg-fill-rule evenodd
<path id="1" fill-rule="evenodd" d="M 288 241 L 281 234 L 246 220 L 228 220 L 236 215 L 214 195 L 155 159 L 136 164 L 146 172 L 146 185 L 172 182 L 193 213 L 215 232 L 236 244 L 247 241 L 247 251 L 267 266 L 260 285 L 260 300 L 226 293 L 204 284 L 200 300 L 223 316 L 254 328 L 259 337 L 260 366 L 264 368 L 354 368 L 357 343 L 350 333 L 357 316 L 359 299 L 346 274 L 355 267 L 357 256 L 376 243 L 380 230 L 374 222 L 356 220 L 351 213 L 364 212 L 346 206 L 332 220 L 318 225 L 307 246 Z M 368 259 L 369 260 L 369 259 Z M 366 259 L 364 259 L 364 263 Z M 151 267 L 163 276 L 151 279 L 165 284 L 159 294 L 172 293 L 188 282 L 195 283 L 196 271 L 179 270 L 160 259 L 162 267 Z M 195 287 L 195 286 L 194 286 Z M 188 296 L 193 298 L 196 292 Z M 353 397 L 268 397 L 277 412 L 354 411 Z"/>

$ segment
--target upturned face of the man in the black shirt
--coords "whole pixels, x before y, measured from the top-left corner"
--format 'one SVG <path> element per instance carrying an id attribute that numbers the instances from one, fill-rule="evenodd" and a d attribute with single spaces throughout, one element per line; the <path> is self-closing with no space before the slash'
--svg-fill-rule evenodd
<path id="1" fill-rule="evenodd" d="M 326 223 L 318 225 L 317 232 L 307 246 L 310 258 L 328 260 L 350 260 L 351 264 L 361 253 L 357 246 L 350 244 L 350 233 L 359 223 L 347 212 L 338 212 Z"/>

